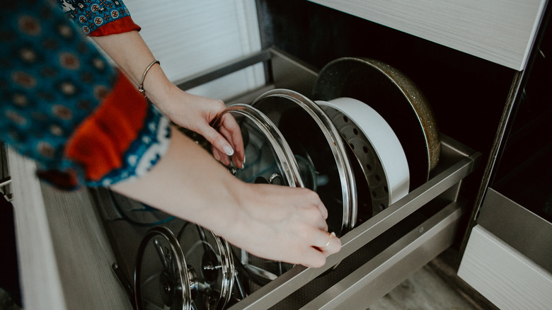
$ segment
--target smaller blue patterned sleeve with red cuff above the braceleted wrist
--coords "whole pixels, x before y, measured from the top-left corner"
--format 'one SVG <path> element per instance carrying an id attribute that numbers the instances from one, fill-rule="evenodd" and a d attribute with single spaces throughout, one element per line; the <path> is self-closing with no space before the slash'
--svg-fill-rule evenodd
<path id="1" fill-rule="evenodd" d="M 56 0 L 64 12 L 89 36 L 140 30 L 122 0 Z"/>

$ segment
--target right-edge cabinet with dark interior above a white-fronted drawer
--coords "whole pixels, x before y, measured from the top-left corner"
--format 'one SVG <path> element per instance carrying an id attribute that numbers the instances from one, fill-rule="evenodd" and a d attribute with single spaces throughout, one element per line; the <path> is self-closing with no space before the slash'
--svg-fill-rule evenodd
<path id="1" fill-rule="evenodd" d="M 497 134 L 458 270 L 500 309 L 548 309 L 552 304 L 549 11 L 505 109 L 504 130 Z"/>

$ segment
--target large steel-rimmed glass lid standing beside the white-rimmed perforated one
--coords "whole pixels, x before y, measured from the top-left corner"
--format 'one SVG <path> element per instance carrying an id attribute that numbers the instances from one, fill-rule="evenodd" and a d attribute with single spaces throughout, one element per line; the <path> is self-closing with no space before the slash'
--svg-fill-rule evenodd
<path id="1" fill-rule="evenodd" d="M 253 107 L 266 115 L 289 144 L 306 188 L 328 209 L 328 227 L 341 236 L 357 221 L 355 176 L 340 133 L 323 110 L 300 93 L 275 89 Z"/>

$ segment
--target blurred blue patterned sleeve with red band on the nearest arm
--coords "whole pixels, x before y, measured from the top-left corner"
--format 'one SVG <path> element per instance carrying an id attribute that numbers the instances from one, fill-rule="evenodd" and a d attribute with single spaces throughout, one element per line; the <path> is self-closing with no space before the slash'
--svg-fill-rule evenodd
<path id="1" fill-rule="evenodd" d="M 50 1 L 0 10 L 0 139 L 58 188 L 149 171 L 170 124 Z"/>

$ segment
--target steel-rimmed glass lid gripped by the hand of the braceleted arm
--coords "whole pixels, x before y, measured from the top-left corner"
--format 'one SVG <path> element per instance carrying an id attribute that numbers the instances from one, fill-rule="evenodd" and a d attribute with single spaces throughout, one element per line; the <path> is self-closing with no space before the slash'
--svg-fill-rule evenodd
<path id="1" fill-rule="evenodd" d="M 234 117 L 241 129 L 246 162 L 231 172 L 247 183 L 271 183 L 304 187 L 292 149 L 272 121 L 251 105 L 234 104 L 213 122 L 218 130 L 224 115 Z"/>

